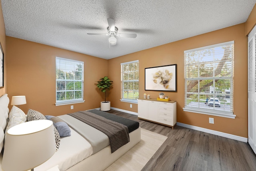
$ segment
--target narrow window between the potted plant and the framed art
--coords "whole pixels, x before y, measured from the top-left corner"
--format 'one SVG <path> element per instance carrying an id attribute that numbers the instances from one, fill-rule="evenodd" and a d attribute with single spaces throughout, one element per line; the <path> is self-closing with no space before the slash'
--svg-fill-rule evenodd
<path id="1" fill-rule="evenodd" d="M 139 61 L 121 64 L 121 101 L 138 103 L 139 98 Z"/>

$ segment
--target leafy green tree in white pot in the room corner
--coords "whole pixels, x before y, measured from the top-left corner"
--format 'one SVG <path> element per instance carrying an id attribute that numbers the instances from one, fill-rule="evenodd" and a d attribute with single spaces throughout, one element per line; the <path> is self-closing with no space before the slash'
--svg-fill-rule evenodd
<path id="1" fill-rule="evenodd" d="M 110 79 L 107 76 L 105 76 L 104 78 L 100 78 L 100 80 L 97 83 L 97 87 L 100 89 L 100 91 L 105 93 L 105 101 L 100 102 L 100 110 L 108 111 L 110 110 L 110 101 L 106 101 L 106 90 L 110 90 L 109 87 L 112 86 L 113 82 L 110 81 Z"/>

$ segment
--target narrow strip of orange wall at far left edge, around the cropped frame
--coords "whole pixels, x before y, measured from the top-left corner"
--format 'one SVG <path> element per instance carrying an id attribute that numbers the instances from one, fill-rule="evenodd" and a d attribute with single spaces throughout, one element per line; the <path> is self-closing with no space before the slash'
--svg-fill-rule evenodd
<path id="1" fill-rule="evenodd" d="M 4 27 L 4 16 L 2 12 L 2 5 L 0 1 L 0 43 L 4 51 L 4 88 L 0 89 L 0 97 L 6 93 L 6 51 L 5 51 L 5 27 Z"/>

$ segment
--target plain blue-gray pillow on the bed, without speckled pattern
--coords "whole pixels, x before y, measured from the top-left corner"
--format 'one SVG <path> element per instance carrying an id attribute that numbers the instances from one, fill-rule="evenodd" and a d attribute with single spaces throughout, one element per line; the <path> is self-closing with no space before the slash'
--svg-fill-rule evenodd
<path id="1" fill-rule="evenodd" d="M 57 128 L 60 137 L 66 137 L 71 135 L 71 131 L 68 124 L 62 121 L 62 119 L 51 115 L 46 115 L 45 117 L 46 119 L 51 120 L 53 122 L 53 125 Z"/>

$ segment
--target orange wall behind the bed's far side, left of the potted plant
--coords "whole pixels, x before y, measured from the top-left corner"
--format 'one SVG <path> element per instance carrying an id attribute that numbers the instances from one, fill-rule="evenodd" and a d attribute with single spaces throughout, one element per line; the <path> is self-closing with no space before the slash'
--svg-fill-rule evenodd
<path id="1" fill-rule="evenodd" d="M 61 115 L 100 107 L 104 93 L 96 87 L 96 81 L 107 75 L 108 61 L 52 46 L 6 36 L 7 93 L 26 95 L 27 104 L 20 105 L 40 111 L 44 115 Z M 55 106 L 56 76 L 55 57 L 84 61 L 84 103 Z M 12 106 L 9 105 L 9 108 Z"/>

